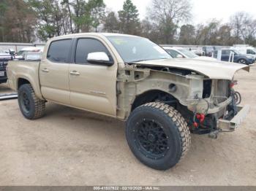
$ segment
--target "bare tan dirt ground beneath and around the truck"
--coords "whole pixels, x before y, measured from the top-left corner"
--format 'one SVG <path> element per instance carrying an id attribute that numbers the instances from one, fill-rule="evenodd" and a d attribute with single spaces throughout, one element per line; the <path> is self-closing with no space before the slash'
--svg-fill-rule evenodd
<path id="1" fill-rule="evenodd" d="M 56 104 L 29 121 L 17 100 L 1 101 L 0 185 L 256 185 L 256 67 L 236 79 L 251 106 L 244 123 L 217 140 L 192 135 L 187 157 L 168 171 L 136 160 L 124 122 Z"/>

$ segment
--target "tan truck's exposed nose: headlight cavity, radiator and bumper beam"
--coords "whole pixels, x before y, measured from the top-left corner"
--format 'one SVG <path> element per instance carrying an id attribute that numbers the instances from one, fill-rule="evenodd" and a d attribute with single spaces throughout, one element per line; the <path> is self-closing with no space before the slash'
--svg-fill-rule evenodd
<path id="1" fill-rule="evenodd" d="M 235 130 L 249 112 L 249 106 L 236 105 L 233 81 L 192 77 L 187 99 L 189 126 L 193 133 L 209 134 L 216 139 L 220 132 Z M 203 83 L 203 85 L 202 85 Z M 200 88 L 200 87 L 201 88 Z"/>

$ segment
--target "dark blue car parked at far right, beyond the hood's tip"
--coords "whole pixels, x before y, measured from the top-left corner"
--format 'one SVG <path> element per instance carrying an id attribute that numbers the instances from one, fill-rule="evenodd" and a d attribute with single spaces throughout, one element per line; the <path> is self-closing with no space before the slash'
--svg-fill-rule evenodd
<path id="1" fill-rule="evenodd" d="M 242 64 L 253 64 L 255 63 L 255 58 L 252 55 L 245 55 L 241 54 L 241 52 L 238 52 L 237 50 L 231 50 L 231 49 L 222 49 L 222 55 L 221 55 L 221 61 L 230 61 L 233 54 L 233 62 L 235 63 L 242 63 Z M 214 52 L 214 58 L 218 57 L 218 51 L 216 50 Z"/>

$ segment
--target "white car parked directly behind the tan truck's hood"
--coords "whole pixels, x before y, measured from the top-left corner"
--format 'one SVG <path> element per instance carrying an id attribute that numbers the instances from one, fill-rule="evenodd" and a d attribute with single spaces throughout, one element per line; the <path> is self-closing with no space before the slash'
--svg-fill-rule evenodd
<path id="1" fill-rule="evenodd" d="M 194 58 L 204 61 L 217 61 L 216 58 L 207 56 L 198 56 L 194 52 L 184 49 L 182 47 L 163 47 L 173 58 Z"/>

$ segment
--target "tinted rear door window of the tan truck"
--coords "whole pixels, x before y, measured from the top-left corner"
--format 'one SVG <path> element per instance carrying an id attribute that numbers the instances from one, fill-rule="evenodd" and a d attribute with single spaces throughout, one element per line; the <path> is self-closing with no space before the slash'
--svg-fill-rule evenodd
<path id="1" fill-rule="evenodd" d="M 50 44 L 47 58 L 54 63 L 68 63 L 72 39 L 53 41 Z"/>

